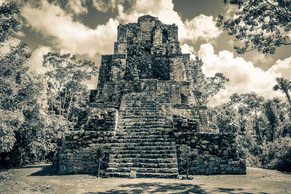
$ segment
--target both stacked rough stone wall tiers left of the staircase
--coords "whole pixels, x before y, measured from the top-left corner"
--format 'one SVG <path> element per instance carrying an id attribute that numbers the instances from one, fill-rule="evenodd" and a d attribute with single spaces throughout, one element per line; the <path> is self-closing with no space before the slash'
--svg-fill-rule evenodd
<path id="1" fill-rule="evenodd" d="M 115 109 L 87 117 L 81 131 L 70 131 L 59 141 L 53 165 L 59 174 L 97 173 L 99 158 L 109 162 L 111 141 L 115 136 L 118 112 Z M 106 169 L 101 162 L 100 169 Z"/>

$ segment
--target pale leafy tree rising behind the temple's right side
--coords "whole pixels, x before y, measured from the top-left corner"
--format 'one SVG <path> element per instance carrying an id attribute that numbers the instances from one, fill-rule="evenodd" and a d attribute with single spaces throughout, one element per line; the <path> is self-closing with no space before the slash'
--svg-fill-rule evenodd
<path id="1" fill-rule="evenodd" d="M 199 57 L 190 60 L 193 78 L 194 94 L 201 93 L 204 103 L 208 103 L 210 97 L 215 96 L 219 91 L 226 89 L 225 83 L 229 81 L 223 73 L 216 73 L 213 77 L 206 77 L 202 71 L 203 61 Z"/>

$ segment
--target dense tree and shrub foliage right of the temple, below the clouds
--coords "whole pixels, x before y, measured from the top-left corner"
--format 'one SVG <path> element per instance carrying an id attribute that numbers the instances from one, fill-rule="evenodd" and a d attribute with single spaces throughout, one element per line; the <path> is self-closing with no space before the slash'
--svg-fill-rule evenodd
<path id="1" fill-rule="evenodd" d="M 210 110 L 221 132 L 238 134 L 239 156 L 248 166 L 291 172 L 289 103 L 235 93 L 230 102 Z"/>

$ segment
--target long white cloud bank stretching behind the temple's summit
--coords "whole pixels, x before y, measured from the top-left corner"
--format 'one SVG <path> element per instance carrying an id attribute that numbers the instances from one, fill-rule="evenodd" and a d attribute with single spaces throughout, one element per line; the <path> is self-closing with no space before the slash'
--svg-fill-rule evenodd
<path id="1" fill-rule="evenodd" d="M 114 19 L 110 18 L 106 24 L 97 25 L 96 29 L 90 29 L 81 22 L 75 21 L 74 14 L 67 13 L 59 5 L 46 0 L 39 1 L 38 6 L 27 2 L 23 4 L 20 11 L 27 25 L 47 38 L 52 43 L 52 47 L 72 54 L 88 55 L 91 58 L 113 53 L 113 43 L 116 41 L 119 23 L 136 22 L 138 16 L 146 14 L 157 16 L 166 24 L 176 23 L 179 28 L 179 40 L 190 39 L 192 42 L 212 40 L 220 34 L 220 31 L 214 27 L 212 16 L 200 15 L 190 21 L 187 20 L 184 25 L 179 14 L 173 10 L 172 0 L 129 1 L 132 7 L 124 10 L 121 4 L 118 5 L 123 0 L 109 0 L 111 7 L 118 8 L 118 16 Z M 69 1 L 67 6 L 78 14 L 86 12 L 87 9 L 83 5 L 84 0 L 75 0 Z M 102 5 L 101 1 L 99 5 Z"/>

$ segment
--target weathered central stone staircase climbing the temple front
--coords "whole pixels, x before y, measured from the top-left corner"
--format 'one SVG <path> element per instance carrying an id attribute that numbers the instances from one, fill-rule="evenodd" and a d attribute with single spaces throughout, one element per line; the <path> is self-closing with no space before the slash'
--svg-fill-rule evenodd
<path id="1" fill-rule="evenodd" d="M 165 89 L 123 95 L 105 176 L 128 178 L 130 170 L 137 172 L 137 178 L 178 176 L 170 96 Z"/>

